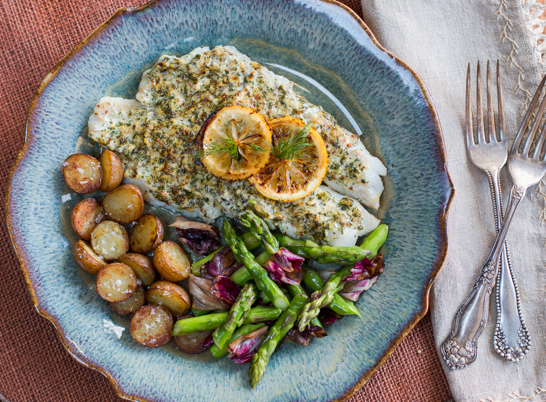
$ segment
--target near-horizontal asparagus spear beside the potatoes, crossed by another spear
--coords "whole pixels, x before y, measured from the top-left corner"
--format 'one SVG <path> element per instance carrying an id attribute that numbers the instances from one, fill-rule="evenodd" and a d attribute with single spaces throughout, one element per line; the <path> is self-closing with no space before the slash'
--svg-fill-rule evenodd
<path id="1" fill-rule="evenodd" d="M 275 320 L 282 313 L 281 310 L 269 306 L 258 305 L 248 310 L 243 324 L 250 324 L 260 321 Z M 222 325 L 228 316 L 228 312 L 212 313 L 201 315 L 199 317 L 191 317 L 185 320 L 176 321 L 173 328 L 173 336 L 193 334 L 194 332 L 213 331 Z"/>

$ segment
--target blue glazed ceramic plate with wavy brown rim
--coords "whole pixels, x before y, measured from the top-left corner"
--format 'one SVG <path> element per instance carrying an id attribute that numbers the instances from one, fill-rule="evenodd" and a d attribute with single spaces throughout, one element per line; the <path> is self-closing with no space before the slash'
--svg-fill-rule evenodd
<path id="1" fill-rule="evenodd" d="M 378 217 L 390 226 L 386 268 L 358 301 L 362 318 L 328 327 L 307 347 L 284 342 L 252 391 L 247 365 L 136 344 L 91 275 L 72 259 L 75 235 L 61 165 L 93 151 L 87 118 L 104 94 L 134 97 L 163 53 L 234 45 L 298 83 L 384 161 Z M 45 77 L 32 98 L 26 143 L 11 172 L 7 222 L 32 301 L 68 352 L 139 401 L 344 400 L 370 379 L 428 308 L 446 255 L 453 186 L 440 125 L 423 82 L 385 51 L 348 8 L 323 0 L 161 0 L 120 9 Z M 168 233 L 172 235 L 172 233 Z"/>

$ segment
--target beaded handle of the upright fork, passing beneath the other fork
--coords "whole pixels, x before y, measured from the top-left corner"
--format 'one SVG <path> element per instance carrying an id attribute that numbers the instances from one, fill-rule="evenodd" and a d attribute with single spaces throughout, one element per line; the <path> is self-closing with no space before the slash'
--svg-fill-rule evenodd
<path id="1" fill-rule="evenodd" d="M 495 210 L 497 230 L 502 223 L 502 191 L 498 171 L 488 175 L 491 197 Z M 497 320 L 493 334 L 495 351 L 508 361 L 519 362 L 531 349 L 531 337 L 520 308 L 518 285 L 505 240 L 501 249 L 500 271 L 496 281 Z"/>

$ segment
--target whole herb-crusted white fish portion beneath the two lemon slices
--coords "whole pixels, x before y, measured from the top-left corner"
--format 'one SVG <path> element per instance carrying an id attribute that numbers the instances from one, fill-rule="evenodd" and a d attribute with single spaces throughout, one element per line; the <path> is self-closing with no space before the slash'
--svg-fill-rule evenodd
<path id="1" fill-rule="evenodd" d="M 354 190 L 354 185 L 351 191 L 346 189 L 350 182 L 348 175 L 341 174 L 345 177 L 343 180 L 339 179 L 341 176 L 330 177 L 330 188 L 320 186 L 304 199 L 279 202 L 263 197 L 248 181 L 227 182 L 216 178 L 200 163 L 195 137 L 204 119 L 219 107 L 246 103 L 245 106 L 261 109 L 261 112 L 266 107 L 266 114 L 273 114 L 273 111 L 286 112 L 286 107 L 293 107 L 287 106 L 289 103 L 307 102 L 292 92 L 292 83 L 286 78 L 272 74 L 241 53 L 233 55 L 232 52 L 216 48 L 212 52 L 194 51 L 180 59 L 163 56 L 154 69 L 144 74 L 137 100 L 104 97 L 99 101 L 88 122 L 90 137 L 120 154 L 124 181 L 138 185 L 152 205 L 179 209 L 188 218 L 207 223 L 222 215 L 239 217 L 252 209 L 272 229 L 278 227 L 289 236 L 332 245 L 355 244 L 358 236 L 375 229 L 379 221 L 358 201 L 340 194 Z M 198 54 L 201 56 L 196 58 Z M 207 57 L 209 64 L 205 67 L 216 69 L 218 74 L 205 72 L 203 65 L 192 64 L 192 61 Z M 183 64 L 184 60 L 186 64 Z M 252 87 L 248 85 L 230 93 L 229 88 L 239 88 L 240 83 L 234 79 L 231 68 L 235 69 L 235 75 L 254 69 L 250 74 L 260 82 L 254 88 L 260 94 L 251 96 Z M 264 80 L 278 87 L 263 86 Z M 218 92 L 217 88 L 222 85 L 225 91 Z M 289 87 L 290 91 L 284 87 Z M 264 100 L 265 106 L 257 106 L 256 99 L 260 97 L 268 99 Z M 337 147 L 352 148 L 352 157 L 358 156 L 361 163 L 369 163 L 370 169 L 378 170 L 383 166 L 366 151 L 357 136 L 337 126 L 319 107 L 309 103 L 302 107 L 306 114 L 292 110 L 292 114 L 284 115 L 313 122 L 323 136 L 336 134 Z M 329 160 L 337 157 L 338 148 L 330 147 Z M 375 197 L 378 201 L 383 187 L 377 173 L 373 176 L 370 172 L 359 172 L 358 177 L 366 177 L 367 183 L 378 181 L 381 189 L 375 188 L 375 195 L 371 186 L 366 187 L 367 183 L 358 188 L 363 194 L 370 193 L 370 199 Z"/>

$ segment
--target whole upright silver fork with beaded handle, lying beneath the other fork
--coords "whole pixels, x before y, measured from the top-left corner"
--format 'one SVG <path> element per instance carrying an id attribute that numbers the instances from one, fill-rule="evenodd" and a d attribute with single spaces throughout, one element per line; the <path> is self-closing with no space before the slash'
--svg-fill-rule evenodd
<path id="1" fill-rule="evenodd" d="M 497 105 L 498 105 L 498 139 L 495 130 L 495 115 L 491 93 L 491 68 L 487 62 L 486 93 L 489 142 L 485 137 L 482 111 L 482 82 L 480 66 L 476 73 L 476 121 L 478 126 L 478 143 L 474 142 L 472 125 L 472 105 L 470 97 L 470 63 L 466 73 L 466 148 L 468 156 L 474 165 L 487 175 L 491 200 L 493 203 L 497 232 L 502 223 L 502 191 L 499 172 L 508 159 L 508 141 L 506 135 L 506 120 L 502 99 L 502 82 L 500 65 L 497 60 Z M 496 281 L 497 321 L 493 335 L 493 346 L 497 353 L 511 362 L 519 362 L 531 348 L 531 338 L 525 325 L 519 303 L 518 285 L 514 278 L 512 263 L 508 253 L 508 244 L 501 253 L 500 271 Z M 477 319 L 479 317 L 476 317 Z"/>

